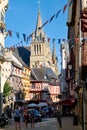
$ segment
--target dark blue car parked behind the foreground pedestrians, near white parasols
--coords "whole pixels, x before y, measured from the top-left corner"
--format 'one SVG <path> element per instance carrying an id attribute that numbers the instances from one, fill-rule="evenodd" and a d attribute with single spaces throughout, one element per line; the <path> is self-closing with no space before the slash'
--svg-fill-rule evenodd
<path id="1" fill-rule="evenodd" d="M 39 111 L 36 110 L 36 109 L 28 109 L 27 110 L 28 115 L 30 115 L 32 112 L 34 114 L 34 122 L 41 122 L 42 121 L 42 116 L 39 113 Z M 23 121 L 25 121 L 25 116 L 23 116 Z M 30 123 L 30 117 L 28 118 L 28 122 Z"/>

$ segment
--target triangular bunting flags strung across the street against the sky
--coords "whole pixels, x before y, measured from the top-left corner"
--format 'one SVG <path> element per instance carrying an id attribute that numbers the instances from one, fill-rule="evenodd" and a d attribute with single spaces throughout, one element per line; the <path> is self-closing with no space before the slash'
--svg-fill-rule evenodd
<path id="1" fill-rule="evenodd" d="M 70 3 L 64 5 L 64 7 L 63 7 L 63 14 L 65 13 L 67 7 L 70 7 L 74 1 L 75 1 L 75 0 L 71 0 Z M 50 18 L 49 20 L 47 20 L 46 22 L 44 22 L 43 25 L 42 25 L 41 27 L 39 27 L 38 29 L 43 28 L 47 23 L 51 23 L 54 18 L 57 18 L 57 17 L 59 16 L 60 12 L 62 12 L 61 9 L 59 9 L 54 15 L 52 15 L 51 18 Z M 12 30 L 7 30 L 7 32 L 8 32 L 8 35 L 9 35 L 10 37 L 13 36 L 13 31 L 12 31 Z M 19 32 L 15 32 L 15 33 L 16 33 L 17 39 L 20 39 L 20 33 L 19 33 Z M 33 33 L 34 33 L 34 32 L 33 32 Z M 23 40 L 21 40 L 20 42 L 18 42 L 18 43 L 15 44 L 15 45 L 13 45 L 13 47 L 23 46 L 23 42 L 26 42 L 26 43 L 28 44 L 28 42 L 30 42 L 30 40 L 31 40 L 31 38 L 32 38 L 33 33 L 31 33 L 31 34 L 29 34 L 29 35 L 23 33 L 23 34 L 22 34 Z M 37 39 L 37 41 L 38 41 L 38 37 L 37 37 L 36 39 Z M 74 40 L 75 40 L 75 39 L 76 39 L 76 41 L 77 41 L 77 38 L 74 38 Z M 45 40 L 45 39 L 43 39 L 43 40 Z M 52 40 L 52 42 L 54 43 L 54 42 L 56 41 L 56 38 L 47 38 L 47 41 L 48 41 L 48 42 L 50 42 L 51 40 Z M 58 38 L 58 39 L 57 39 L 57 42 L 58 42 L 58 44 L 60 44 L 61 41 L 64 41 L 64 40 L 66 40 L 66 39 Z M 70 40 L 73 40 L 73 39 L 68 39 L 68 40 L 70 41 Z"/>

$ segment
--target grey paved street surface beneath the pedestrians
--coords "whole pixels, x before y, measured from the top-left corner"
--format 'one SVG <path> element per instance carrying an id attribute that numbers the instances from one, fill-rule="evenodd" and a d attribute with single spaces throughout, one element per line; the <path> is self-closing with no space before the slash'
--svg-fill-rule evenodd
<path id="1" fill-rule="evenodd" d="M 21 122 L 21 130 L 31 130 L 30 124 L 28 124 L 28 128 L 25 128 L 25 124 Z M 80 125 L 73 125 L 72 117 L 62 117 L 62 128 L 59 127 L 56 118 L 44 118 L 42 122 L 35 123 L 35 127 L 32 130 L 81 130 Z M 4 128 L 0 128 L 0 130 L 15 130 L 14 122 L 9 124 Z"/>

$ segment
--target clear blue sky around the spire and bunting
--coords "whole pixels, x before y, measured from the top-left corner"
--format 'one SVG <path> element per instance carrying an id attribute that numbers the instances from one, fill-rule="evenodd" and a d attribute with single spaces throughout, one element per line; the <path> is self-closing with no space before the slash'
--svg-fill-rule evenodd
<path id="1" fill-rule="evenodd" d="M 47 38 L 50 38 L 50 47 L 52 50 L 52 39 L 55 39 L 56 55 L 58 58 L 58 68 L 61 69 L 61 54 L 60 44 L 58 39 L 67 39 L 67 10 L 63 13 L 64 6 L 68 0 L 9 0 L 8 10 L 6 11 L 5 24 L 6 30 L 12 32 L 12 36 L 7 36 L 5 39 L 5 47 L 18 45 L 23 41 L 23 34 L 29 36 L 36 28 L 38 8 L 40 8 L 42 24 L 57 14 L 60 13 L 48 22 L 43 30 Z M 17 38 L 16 32 L 20 38 Z M 22 46 L 30 46 L 30 42 L 22 42 Z"/>

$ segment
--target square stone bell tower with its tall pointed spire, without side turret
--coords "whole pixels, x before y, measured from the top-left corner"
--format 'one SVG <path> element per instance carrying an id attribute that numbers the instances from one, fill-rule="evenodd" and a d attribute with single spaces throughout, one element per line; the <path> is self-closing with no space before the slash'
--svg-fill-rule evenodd
<path id="1" fill-rule="evenodd" d="M 40 10 L 38 10 L 37 24 L 34 33 L 32 33 L 30 67 L 50 66 L 52 62 L 50 44 L 47 41 L 46 34 L 42 26 Z"/>

